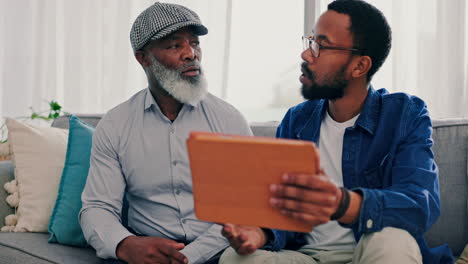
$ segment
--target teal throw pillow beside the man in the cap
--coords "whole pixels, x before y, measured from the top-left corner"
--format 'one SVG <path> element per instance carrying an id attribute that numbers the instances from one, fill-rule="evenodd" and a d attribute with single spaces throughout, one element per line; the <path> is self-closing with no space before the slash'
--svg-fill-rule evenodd
<path id="1" fill-rule="evenodd" d="M 49 221 L 49 243 L 87 246 L 78 221 L 81 193 L 88 177 L 94 128 L 70 117 L 67 154 L 54 211 Z"/>

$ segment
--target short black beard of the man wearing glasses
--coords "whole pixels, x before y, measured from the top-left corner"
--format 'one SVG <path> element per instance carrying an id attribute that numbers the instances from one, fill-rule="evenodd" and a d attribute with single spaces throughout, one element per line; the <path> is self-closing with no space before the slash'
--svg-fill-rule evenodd
<path id="1" fill-rule="evenodd" d="M 336 100 L 344 96 L 345 88 L 348 86 L 348 80 L 344 78 L 345 70 L 348 64 L 343 65 L 341 69 L 330 78 L 327 78 L 325 84 L 318 84 L 315 74 L 303 62 L 301 67 L 305 77 L 312 81 L 311 86 L 302 85 L 302 96 L 307 100 L 328 99 Z"/>

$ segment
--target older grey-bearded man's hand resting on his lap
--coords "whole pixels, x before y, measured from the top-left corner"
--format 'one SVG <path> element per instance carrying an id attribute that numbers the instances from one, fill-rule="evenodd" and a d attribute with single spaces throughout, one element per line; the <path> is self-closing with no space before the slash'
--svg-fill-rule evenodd
<path id="1" fill-rule="evenodd" d="M 129 236 L 117 246 L 117 257 L 129 264 L 186 264 L 187 257 L 179 252 L 184 247 L 166 238 Z"/>

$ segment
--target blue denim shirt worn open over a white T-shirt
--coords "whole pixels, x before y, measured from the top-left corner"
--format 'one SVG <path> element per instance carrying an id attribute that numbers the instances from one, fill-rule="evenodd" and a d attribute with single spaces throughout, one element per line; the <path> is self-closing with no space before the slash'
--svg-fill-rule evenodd
<path id="1" fill-rule="evenodd" d="M 290 108 L 276 136 L 318 143 L 327 108 L 327 100 Z M 418 242 L 424 263 L 452 263 L 446 245 L 430 249 L 423 238 L 440 215 L 431 134 L 431 119 L 421 99 L 369 88 L 359 118 L 343 139 L 344 186 L 363 196 L 359 218 L 347 227 L 356 241 L 387 226 L 404 229 Z M 301 233 L 272 231 L 271 250 L 305 244 Z"/>

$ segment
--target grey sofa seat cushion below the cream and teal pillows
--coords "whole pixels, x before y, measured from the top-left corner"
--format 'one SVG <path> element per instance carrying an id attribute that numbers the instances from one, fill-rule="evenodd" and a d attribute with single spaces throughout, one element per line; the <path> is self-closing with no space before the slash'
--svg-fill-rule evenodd
<path id="1" fill-rule="evenodd" d="M 49 244 L 48 233 L 0 233 L 2 263 L 102 263 L 92 248 Z M 8 260 L 8 262 L 4 262 Z"/>

